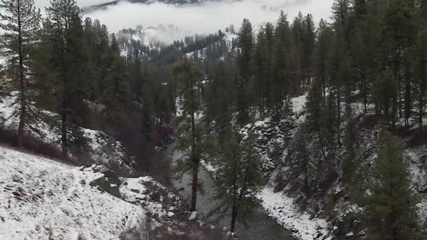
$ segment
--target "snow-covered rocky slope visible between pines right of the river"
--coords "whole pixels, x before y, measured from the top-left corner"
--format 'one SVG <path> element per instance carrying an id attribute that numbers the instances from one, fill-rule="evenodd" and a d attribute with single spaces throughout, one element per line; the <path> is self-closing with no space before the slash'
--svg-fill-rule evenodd
<path id="1" fill-rule="evenodd" d="M 358 237 L 363 235 L 364 226 L 360 224 L 357 215 L 363 212 L 363 207 L 349 201 L 349 193 L 346 192 L 342 179 L 338 176 L 321 195 L 307 198 L 297 184 L 301 176 L 294 175 L 292 165 L 289 165 L 292 162 L 289 157 L 292 158 L 292 155 L 288 154 L 296 151 L 292 148 L 294 136 L 298 127 L 304 127 L 306 121 L 306 101 L 307 95 L 291 99 L 294 113 L 281 122 L 267 117 L 246 125 L 241 130 L 242 135 L 255 135 L 256 149 L 262 158 L 264 174 L 269 178 L 258 197 L 262 200 L 266 212 L 276 219 L 277 223 L 292 230 L 297 239 L 329 239 L 332 235 L 338 237 L 337 239 L 359 239 Z M 360 151 L 363 151 L 360 155 L 363 155 L 364 163 L 372 165 L 377 157 L 375 152 L 380 125 L 378 121 L 370 125 L 373 121 L 370 118 L 376 119 L 375 115 L 363 115 L 360 104 L 353 104 L 352 107 L 353 112 L 359 115 L 358 142 L 362 146 Z M 293 124 L 284 125 L 286 119 Z M 413 139 L 417 138 L 412 134 L 410 132 L 403 137 L 408 143 L 405 155 L 410 160 L 412 189 L 420 196 L 420 224 L 426 231 L 427 145 L 411 146 Z M 309 155 L 313 155 L 309 148 L 311 142 L 312 140 L 306 139 Z M 340 162 L 342 155 L 337 155 L 336 161 Z M 330 199 L 334 199 L 334 202 L 328 202 Z"/>

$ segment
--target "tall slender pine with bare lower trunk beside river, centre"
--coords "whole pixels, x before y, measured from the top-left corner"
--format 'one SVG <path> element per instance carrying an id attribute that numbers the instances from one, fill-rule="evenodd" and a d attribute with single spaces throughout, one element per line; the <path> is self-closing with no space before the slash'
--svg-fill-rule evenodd
<path id="1" fill-rule="evenodd" d="M 192 201 L 191 210 L 196 210 L 197 187 L 200 158 L 203 150 L 203 128 L 196 120 L 196 114 L 200 110 L 200 83 L 203 74 L 194 66 L 188 58 L 183 58 L 173 68 L 173 75 L 179 80 L 182 92 L 182 115 L 177 118 L 177 143 L 176 149 L 183 153 L 189 152 L 180 159 L 182 170 L 192 172 Z"/>

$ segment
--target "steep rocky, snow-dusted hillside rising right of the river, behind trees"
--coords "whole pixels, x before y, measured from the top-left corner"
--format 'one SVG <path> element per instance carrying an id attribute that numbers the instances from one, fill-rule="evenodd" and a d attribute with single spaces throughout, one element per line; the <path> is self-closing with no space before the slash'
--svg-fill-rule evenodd
<path id="1" fill-rule="evenodd" d="M 364 205 L 358 205 L 354 199 L 355 185 L 349 187 L 342 165 L 347 157 L 345 146 L 337 146 L 332 155 L 328 150 L 330 165 L 337 165 L 337 172 L 322 167 L 317 172 L 315 166 L 308 166 L 308 185 L 304 185 L 305 174 L 301 168 L 302 149 L 298 141 L 306 145 L 305 155 L 309 159 L 322 158 L 318 148 L 318 139 L 314 135 L 298 136 L 307 128 L 306 96 L 293 99 L 293 115 L 288 115 L 280 122 L 270 117 L 254 124 L 246 125 L 243 135 L 255 135 L 259 155 L 263 160 L 263 173 L 267 179 L 264 190 L 259 195 L 266 211 L 284 225 L 294 230 L 298 239 L 361 239 L 365 229 L 362 214 Z M 381 127 L 379 117 L 361 113 L 359 104 L 353 104 L 353 112 L 358 113 L 357 145 L 359 169 L 374 165 L 377 155 L 377 142 Z M 286 124 L 285 124 L 286 123 Z M 423 132 L 411 125 L 409 129 L 398 127 L 396 135 L 405 141 L 405 156 L 409 159 L 411 185 L 413 192 L 420 197 L 418 214 L 423 231 L 427 230 L 427 164 L 425 159 L 427 145 L 422 140 Z M 344 137 L 345 131 L 342 130 Z M 333 164 L 335 163 L 335 164 Z M 368 177 L 367 174 L 357 179 Z M 346 182 L 347 181 L 347 182 Z M 346 182 L 346 183 L 345 183 Z"/>

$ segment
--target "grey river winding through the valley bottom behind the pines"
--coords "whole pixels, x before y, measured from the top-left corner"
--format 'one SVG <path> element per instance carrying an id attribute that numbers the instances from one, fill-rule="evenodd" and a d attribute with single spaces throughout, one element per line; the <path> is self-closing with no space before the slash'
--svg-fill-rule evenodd
<path id="1" fill-rule="evenodd" d="M 167 150 L 160 152 L 161 161 L 169 161 L 169 164 L 174 165 L 176 160 L 181 157 L 179 153 L 173 152 L 173 145 L 170 145 Z M 186 201 L 191 199 L 191 176 L 190 175 L 173 175 L 171 174 L 172 186 L 179 190 L 179 195 Z M 198 217 L 205 223 L 217 225 L 221 227 L 230 227 L 230 215 L 222 214 L 224 211 L 219 211 L 221 199 L 217 199 L 217 185 L 213 177 L 203 168 L 200 168 L 199 181 L 203 183 L 204 195 L 197 195 L 197 213 Z M 236 233 L 239 239 L 244 240 L 292 240 L 289 231 L 280 225 L 277 225 L 268 215 L 265 210 L 259 206 L 254 211 L 251 219 L 247 220 L 247 225 L 237 221 Z"/>

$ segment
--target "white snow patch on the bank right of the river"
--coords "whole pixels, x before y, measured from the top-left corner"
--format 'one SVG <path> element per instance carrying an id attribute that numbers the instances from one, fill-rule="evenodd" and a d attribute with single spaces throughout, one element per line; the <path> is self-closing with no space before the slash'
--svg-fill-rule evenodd
<path id="1" fill-rule="evenodd" d="M 266 186 L 258 197 L 262 200 L 268 215 L 278 224 L 291 230 L 297 239 L 322 239 L 323 236 L 328 235 L 328 223 L 324 219 L 312 218 L 299 211 L 292 197 L 275 193 L 269 186 Z"/>

